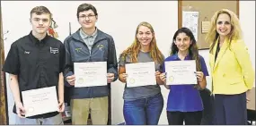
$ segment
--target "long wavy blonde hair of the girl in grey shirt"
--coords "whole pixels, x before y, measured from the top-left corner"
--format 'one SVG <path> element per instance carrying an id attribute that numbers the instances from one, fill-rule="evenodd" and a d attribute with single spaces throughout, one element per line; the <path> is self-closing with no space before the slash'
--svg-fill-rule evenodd
<path id="1" fill-rule="evenodd" d="M 132 43 L 131 46 L 128 46 L 128 48 L 126 50 L 124 50 L 123 53 L 120 55 L 120 58 L 125 58 L 127 55 L 130 55 L 131 63 L 137 63 L 137 55 L 139 53 L 139 49 L 141 48 L 141 45 L 140 45 L 139 41 L 137 40 L 137 33 L 138 33 L 138 29 L 141 26 L 145 26 L 148 29 L 150 29 L 152 34 L 154 35 L 154 29 L 150 23 L 143 21 L 138 24 L 134 42 Z M 158 47 L 156 45 L 155 37 L 152 39 L 152 41 L 150 43 L 149 51 L 150 51 L 149 52 L 150 56 L 151 56 L 151 58 L 153 58 L 154 62 L 163 63 L 163 60 L 164 60 L 163 54 L 160 52 L 160 50 L 158 49 Z"/>

